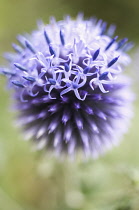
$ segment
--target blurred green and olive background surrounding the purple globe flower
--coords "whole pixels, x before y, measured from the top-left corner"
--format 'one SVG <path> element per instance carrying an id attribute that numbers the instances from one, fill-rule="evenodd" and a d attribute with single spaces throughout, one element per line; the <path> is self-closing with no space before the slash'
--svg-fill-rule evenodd
<path id="1" fill-rule="evenodd" d="M 129 132 L 120 146 L 97 160 L 56 160 L 32 152 L 13 126 L 15 113 L 0 77 L 0 210 L 139 210 L 139 1 L 0 0 L 0 62 L 17 34 L 31 32 L 38 19 L 48 23 L 78 12 L 117 25 L 120 38 L 135 43 L 129 67 L 137 100 Z"/>

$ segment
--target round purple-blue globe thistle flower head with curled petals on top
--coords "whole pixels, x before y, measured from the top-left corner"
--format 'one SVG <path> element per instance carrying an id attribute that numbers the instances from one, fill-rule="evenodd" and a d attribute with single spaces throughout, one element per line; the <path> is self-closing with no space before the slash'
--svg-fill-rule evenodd
<path id="1" fill-rule="evenodd" d="M 66 17 L 39 23 L 18 36 L 16 53 L 1 67 L 14 90 L 18 124 L 38 149 L 93 157 L 116 145 L 131 117 L 130 81 L 123 76 L 130 58 L 127 38 L 95 19 Z"/>

